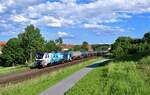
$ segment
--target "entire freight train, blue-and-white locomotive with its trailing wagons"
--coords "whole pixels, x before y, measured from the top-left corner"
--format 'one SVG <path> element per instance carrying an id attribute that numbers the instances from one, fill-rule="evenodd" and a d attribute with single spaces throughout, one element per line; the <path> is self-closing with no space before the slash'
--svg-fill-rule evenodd
<path id="1" fill-rule="evenodd" d="M 65 62 L 71 62 L 81 58 L 100 55 L 100 52 L 44 52 L 36 53 L 36 67 L 46 67 L 48 65 L 56 65 Z"/>

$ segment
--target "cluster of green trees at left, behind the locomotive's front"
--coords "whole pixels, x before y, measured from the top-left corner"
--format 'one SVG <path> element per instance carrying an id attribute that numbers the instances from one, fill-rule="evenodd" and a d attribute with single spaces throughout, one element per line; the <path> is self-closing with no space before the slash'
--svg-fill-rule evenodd
<path id="1" fill-rule="evenodd" d="M 34 61 L 36 52 L 60 51 L 62 38 L 45 41 L 40 34 L 40 29 L 28 25 L 24 32 L 16 38 L 8 40 L 2 49 L 1 60 L 3 66 L 27 64 Z"/>

